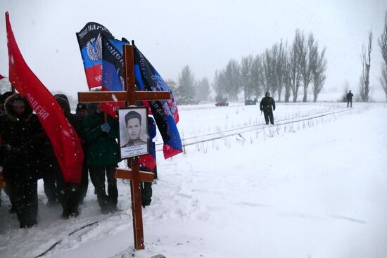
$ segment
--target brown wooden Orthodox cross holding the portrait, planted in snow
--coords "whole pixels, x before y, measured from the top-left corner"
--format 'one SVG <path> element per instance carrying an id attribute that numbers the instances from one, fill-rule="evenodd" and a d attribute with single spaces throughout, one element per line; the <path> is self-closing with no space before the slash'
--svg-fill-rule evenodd
<path id="1" fill-rule="evenodd" d="M 133 46 L 124 45 L 124 70 L 125 91 L 94 91 L 79 92 L 80 103 L 100 103 L 112 101 L 125 101 L 126 106 L 135 105 L 136 101 L 159 101 L 171 98 L 168 91 L 136 91 L 134 78 L 134 53 Z M 141 181 L 152 182 L 153 173 L 139 171 L 138 157 L 130 157 L 132 169 L 116 169 L 116 179 L 129 179 L 132 193 L 132 214 L 134 247 L 137 250 L 144 249 L 144 231 L 142 226 L 141 207 Z"/>

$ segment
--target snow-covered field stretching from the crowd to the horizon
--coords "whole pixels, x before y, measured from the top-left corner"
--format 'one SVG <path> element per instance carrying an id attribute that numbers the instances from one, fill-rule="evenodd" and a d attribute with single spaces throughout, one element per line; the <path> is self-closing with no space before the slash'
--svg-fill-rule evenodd
<path id="1" fill-rule="evenodd" d="M 170 160 L 158 152 L 145 250 L 133 250 L 127 181 L 119 212 L 100 214 L 90 183 L 69 220 L 44 205 L 39 181 L 34 228 L 19 229 L 1 195 L 0 257 L 37 257 L 54 243 L 43 257 L 387 257 L 386 103 L 279 103 L 274 126 L 243 103 L 179 114 L 187 146 Z"/>

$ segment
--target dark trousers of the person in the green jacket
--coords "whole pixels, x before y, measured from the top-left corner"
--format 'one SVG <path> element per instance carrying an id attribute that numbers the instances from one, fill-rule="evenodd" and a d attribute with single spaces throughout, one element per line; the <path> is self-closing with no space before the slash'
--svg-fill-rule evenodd
<path id="1" fill-rule="evenodd" d="M 117 179 L 115 179 L 115 168 L 118 165 L 109 165 L 106 167 L 89 167 L 91 183 L 93 183 L 99 207 L 108 209 L 116 207 L 118 200 Z M 108 194 L 106 195 L 105 176 L 108 181 Z"/>

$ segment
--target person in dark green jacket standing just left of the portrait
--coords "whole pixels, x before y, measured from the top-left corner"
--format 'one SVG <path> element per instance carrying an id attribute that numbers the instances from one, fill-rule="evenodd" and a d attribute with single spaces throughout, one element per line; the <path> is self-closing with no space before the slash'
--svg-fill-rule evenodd
<path id="1" fill-rule="evenodd" d="M 91 183 L 101 207 L 101 212 L 106 214 L 117 209 L 118 189 L 115 179 L 115 168 L 120 162 L 120 148 L 118 138 L 118 121 L 105 115 L 101 103 L 96 105 L 96 110 L 90 110 L 84 117 L 84 138 L 87 141 L 87 165 Z M 105 190 L 105 176 L 108 181 L 108 195 Z"/>

